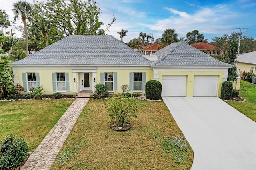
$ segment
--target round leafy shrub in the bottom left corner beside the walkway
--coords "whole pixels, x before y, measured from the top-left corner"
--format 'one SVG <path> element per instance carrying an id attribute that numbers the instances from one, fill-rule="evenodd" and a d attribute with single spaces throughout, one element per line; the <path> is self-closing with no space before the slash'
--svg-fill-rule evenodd
<path id="1" fill-rule="evenodd" d="M 18 166 L 28 154 L 28 144 L 22 138 L 9 134 L 0 140 L 1 146 L 9 146 L 0 152 L 0 169 Z"/>

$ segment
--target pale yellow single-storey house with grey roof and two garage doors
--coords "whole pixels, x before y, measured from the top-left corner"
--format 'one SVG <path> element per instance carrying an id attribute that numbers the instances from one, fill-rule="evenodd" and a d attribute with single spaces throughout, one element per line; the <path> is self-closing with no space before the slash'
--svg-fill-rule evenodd
<path id="1" fill-rule="evenodd" d="M 113 93 L 124 84 L 130 93 L 144 93 L 146 82 L 155 79 L 163 96 L 220 96 L 231 67 L 184 42 L 154 55 L 150 61 L 113 36 L 68 36 L 10 66 L 25 92 L 43 85 L 44 94 L 72 94 L 102 83 Z"/>

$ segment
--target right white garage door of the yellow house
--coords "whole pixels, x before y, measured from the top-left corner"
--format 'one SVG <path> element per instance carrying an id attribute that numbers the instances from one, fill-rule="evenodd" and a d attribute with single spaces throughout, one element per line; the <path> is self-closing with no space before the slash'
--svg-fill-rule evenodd
<path id="1" fill-rule="evenodd" d="M 194 96 L 217 96 L 218 75 L 195 75 Z"/>

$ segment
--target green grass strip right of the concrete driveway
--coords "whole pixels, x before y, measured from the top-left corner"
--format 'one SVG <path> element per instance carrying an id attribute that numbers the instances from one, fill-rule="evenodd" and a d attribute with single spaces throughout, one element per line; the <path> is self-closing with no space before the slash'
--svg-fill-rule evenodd
<path id="1" fill-rule="evenodd" d="M 247 102 L 227 103 L 256 122 L 256 85 L 242 80 L 239 95 Z"/>

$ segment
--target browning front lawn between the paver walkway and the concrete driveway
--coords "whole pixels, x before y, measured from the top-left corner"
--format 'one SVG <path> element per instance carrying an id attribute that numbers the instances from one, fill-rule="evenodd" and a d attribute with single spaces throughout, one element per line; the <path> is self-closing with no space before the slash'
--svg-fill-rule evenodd
<path id="1" fill-rule="evenodd" d="M 164 102 L 137 100 L 132 128 L 116 132 L 104 101 L 90 99 L 60 150 L 51 170 L 59 169 L 190 169 L 193 152 L 166 151 L 163 141 L 182 136 Z"/>

